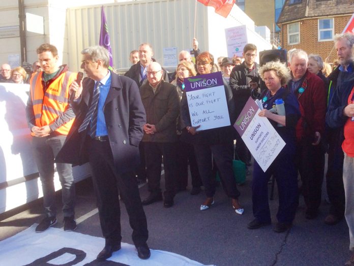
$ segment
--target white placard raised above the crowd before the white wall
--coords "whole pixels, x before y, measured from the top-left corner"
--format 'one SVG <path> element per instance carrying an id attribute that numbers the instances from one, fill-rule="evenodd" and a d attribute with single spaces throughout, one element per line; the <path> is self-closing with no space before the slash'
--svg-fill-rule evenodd
<path id="1" fill-rule="evenodd" d="M 246 25 L 232 28 L 225 28 L 227 56 L 234 55 L 242 57 L 243 48 L 248 43 Z"/>

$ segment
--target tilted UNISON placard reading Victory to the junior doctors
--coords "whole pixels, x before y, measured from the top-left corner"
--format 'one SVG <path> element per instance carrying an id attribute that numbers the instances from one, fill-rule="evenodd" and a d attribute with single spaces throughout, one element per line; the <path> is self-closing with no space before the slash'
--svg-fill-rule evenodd
<path id="1" fill-rule="evenodd" d="M 259 112 L 260 109 L 250 97 L 233 126 L 265 172 L 284 148 L 285 142 L 268 118 L 258 116 Z"/>

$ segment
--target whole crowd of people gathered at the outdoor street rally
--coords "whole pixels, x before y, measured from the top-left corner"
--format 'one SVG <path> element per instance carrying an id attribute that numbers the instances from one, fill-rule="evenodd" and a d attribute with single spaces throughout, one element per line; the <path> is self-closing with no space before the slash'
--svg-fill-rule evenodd
<path id="1" fill-rule="evenodd" d="M 326 185 L 331 203 L 325 219 L 329 225 L 344 217 L 349 227 L 350 250 L 354 251 L 354 205 L 351 202 L 354 172 L 354 62 L 352 34 L 334 39 L 338 60 L 331 65 L 319 55 L 301 49 L 288 51 L 287 64 L 255 62 L 257 47 L 247 44 L 243 58 L 219 57 L 200 52 L 193 39 L 193 54 L 181 51 L 175 73 L 153 58 L 153 48 L 142 43 L 129 59 L 124 76 L 109 70 L 109 56 L 100 46 L 84 49 L 80 80 L 66 65 L 58 66 L 55 46 L 37 49 L 38 62 L 30 78 L 21 67 L 3 64 L 1 82 L 30 84 L 26 118 L 33 136 L 35 158 L 44 194 L 45 218 L 37 226 L 42 232 L 55 224 L 54 161 L 63 187 L 64 230 L 75 230 L 75 189 L 71 164 L 89 162 L 97 195 L 101 228 L 106 243 L 98 254 L 105 260 L 121 248 L 119 196 L 125 203 L 133 228 L 138 256 L 150 257 L 143 205 L 163 201 L 174 205 L 175 194 L 187 189 L 188 166 L 191 194 L 204 187 L 200 211 L 215 203 L 216 172 L 231 199 L 232 210 L 242 215 L 242 195 L 232 169 L 233 154 L 251 167 L 251 154 L 233 123 L 250 97 L 259 99 L 260 117 L 270 120 L 285 147 L 263 171 L 253 161 L 252 204 L 254 219 L 249 229 L 271 223 L 268 183 L 277 183 L 279 209 L 275 232 L 287 231 L 304 197 L 307 219 L 315 219 L 321 203 L 328 153 Z M 185 79 L 222 72 L 230 126 L 198 130 L 192 126 Z M 262 82 L 261 82 L 262 81 Z M 73 95 L 73 96 L 72 96 Z M 284 113 L 274 107 L 284 105 Z M 76 116 L 76 117 L 75 117 Z M 235 146 L 234 146 L 235 141 Z M 160 186 L 161 162 L 165 188 Z M 298 186 L 298 174 L 301 185 Z M 149 196 L 140 200 L 138 182 L 147 182 Z M 354 265 L 354 256 L 347 265 Z"/>

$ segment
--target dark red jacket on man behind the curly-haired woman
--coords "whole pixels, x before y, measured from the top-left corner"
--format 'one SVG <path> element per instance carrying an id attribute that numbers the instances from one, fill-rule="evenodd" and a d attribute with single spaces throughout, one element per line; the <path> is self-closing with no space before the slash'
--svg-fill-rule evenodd
<path id="1" fill-rule="evenodd" d="M 302 91 L 301 88 L 304 89 L 303 93 L 299 92 L 299 90 Z M 303 83 L 294 91 L 294 94 L 298 98 L 302 115 L 296 127 L 298 140 L 304 137 L 314 138 L 316 131 L 322 137 L 326 120 L 325 83 L 307 70 Z"/>

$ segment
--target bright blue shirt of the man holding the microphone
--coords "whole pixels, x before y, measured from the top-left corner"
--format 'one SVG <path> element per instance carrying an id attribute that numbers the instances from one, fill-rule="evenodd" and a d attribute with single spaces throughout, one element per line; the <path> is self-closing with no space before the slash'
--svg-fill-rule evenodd
<path id="1" fill-rule="evenodd" d="M 98 110 L 97 110 L 96 136 L 108 136 L 106 121 L 104 119 L 103 106 L 104 103 L 106 102 L 111 80 L 112 80 L 111 75 L 110 72 L 108 71 L 108 74 L 102 80 L 99 81 L 101 82 L 101 87 L 100 87 L 100 98 L 98 99 L 98 106 L 97 106 Z M 97 82 L 98 81 L 95 81 L 95 88 Z"/>

